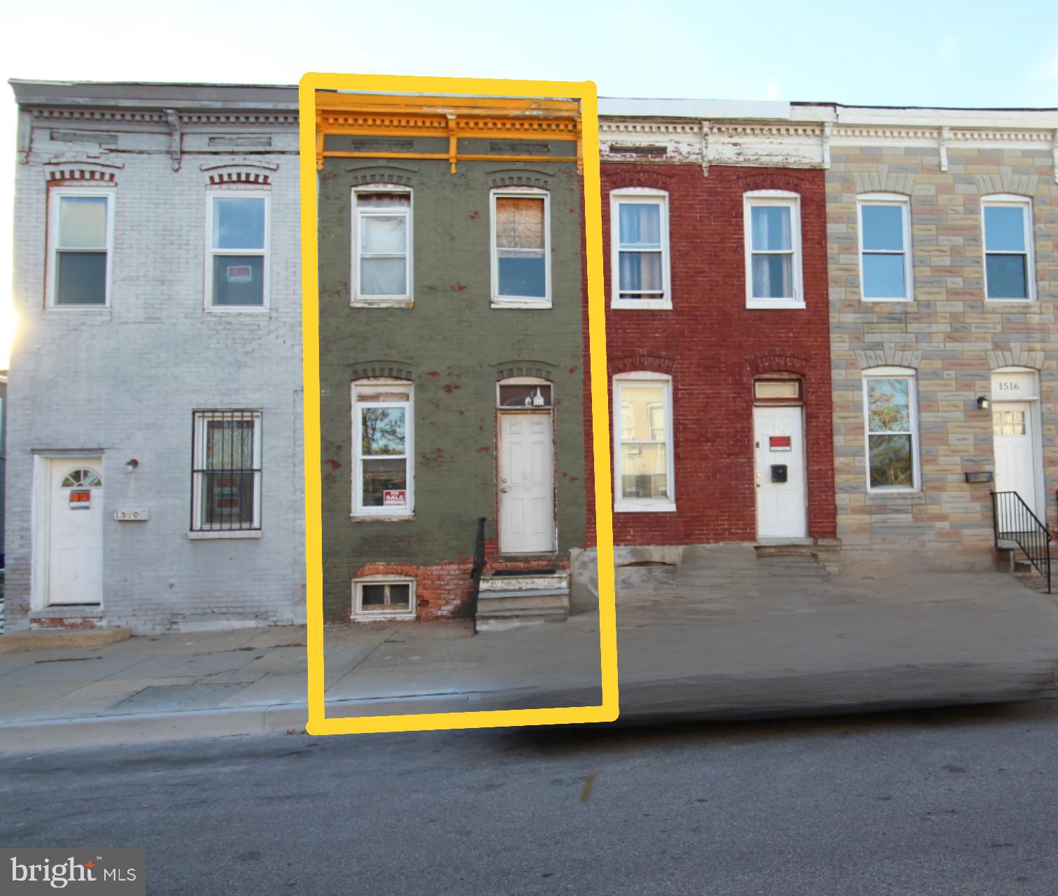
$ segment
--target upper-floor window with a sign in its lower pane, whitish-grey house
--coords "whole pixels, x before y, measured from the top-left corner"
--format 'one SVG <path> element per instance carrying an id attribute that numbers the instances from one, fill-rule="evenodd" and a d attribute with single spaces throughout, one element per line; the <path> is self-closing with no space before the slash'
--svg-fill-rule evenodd
<path id="1" fill-rule="evenodd" d="M 262 193 L 208 194 L 207 307 L 268 307 L 268 202 Z"/>

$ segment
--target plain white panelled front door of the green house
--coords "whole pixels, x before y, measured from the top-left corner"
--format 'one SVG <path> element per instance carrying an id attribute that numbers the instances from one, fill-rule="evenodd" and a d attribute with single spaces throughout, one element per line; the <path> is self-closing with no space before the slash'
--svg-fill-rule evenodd
<path id="1" fill-rule="evenodd" d="M 499 415 L 499 552 L 554 550 L 550 414 Z"/>

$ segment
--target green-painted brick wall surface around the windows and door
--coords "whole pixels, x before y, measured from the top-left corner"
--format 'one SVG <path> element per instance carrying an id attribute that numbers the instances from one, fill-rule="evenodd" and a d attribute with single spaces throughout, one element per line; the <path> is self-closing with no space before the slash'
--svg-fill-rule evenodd
<path id="1" fill-rule="evenodd" d="M 328 144 L 330 147 L 331 144 Z M 344 148 L 344 147 L 340 147 Z M 433 147 L 431 147 L 433 149 Z M 553 156 L 572 154 L 552 143 Z M 351 190 L 399 183 L 414 196 L 414 308 L 350 308 Z M 550 309 L 490 308 L 490 190 L 550 195 Z M 324 609 L 349 611 L 367 563 L 417 566 L 495 537 L 496 381 L 537 370 L 554 383 L 559 559 L 584 544 L 583 187 L 571 164 L 328 159 L 320 173 L 320 333 Z M 350 383 L 373 369 L 415 385 L 415 519 L 351 522 Z M 357 372 L 360 371 L 360 372 Z"/>

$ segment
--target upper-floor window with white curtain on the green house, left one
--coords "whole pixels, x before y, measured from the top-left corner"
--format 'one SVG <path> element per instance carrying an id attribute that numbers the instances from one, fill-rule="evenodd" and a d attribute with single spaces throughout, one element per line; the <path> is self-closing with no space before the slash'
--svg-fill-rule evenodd
<path id="1" fill-rule="evenodd" d="M 377 184 L 352 191 L 354 304 L 412 300 L 412 190 Z"/>

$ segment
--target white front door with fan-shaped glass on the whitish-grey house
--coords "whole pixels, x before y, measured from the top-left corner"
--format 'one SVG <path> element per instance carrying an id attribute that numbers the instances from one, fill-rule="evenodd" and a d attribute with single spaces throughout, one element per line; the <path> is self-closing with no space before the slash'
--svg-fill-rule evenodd
<path id="1" fill-rule="evenodd" d="M 103 458 L 48 461 L 48 603 L 103 602 Z"/>

